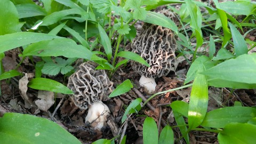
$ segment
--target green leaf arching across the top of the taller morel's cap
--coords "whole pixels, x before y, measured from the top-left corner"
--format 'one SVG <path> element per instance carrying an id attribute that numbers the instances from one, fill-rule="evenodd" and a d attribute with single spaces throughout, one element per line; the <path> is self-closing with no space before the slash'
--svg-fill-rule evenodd
<path id="1" fill-rule="evenodd" d="M 178 34 L 178 27 L 170 18 L 167 18 L 164 14 L 147 11 L 147 17 L 143 21 L 169 28 Z"/>

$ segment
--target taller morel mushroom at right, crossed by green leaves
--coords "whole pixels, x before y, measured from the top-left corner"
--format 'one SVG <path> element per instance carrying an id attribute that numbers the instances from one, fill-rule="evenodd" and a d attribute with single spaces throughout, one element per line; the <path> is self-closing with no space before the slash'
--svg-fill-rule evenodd
<path id="1" fill-rule="evenodd" d="M 162 11 L 166 17 L 173 18 L 173 13 Z M 133 39 L 132 52 L 145 59 L 150 67 L 132 61 L 135 72 L 141 75 L 140 85 L 144 86 L 148 93 L 155 91 L 156 77 L 166 76 L 170 71 L 175 71 L 175 50 L 177 43 L 171 29 L 162 26 L 145 23 L 140 34 Z"/>

